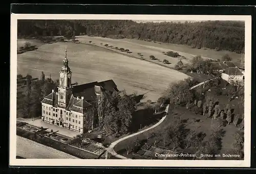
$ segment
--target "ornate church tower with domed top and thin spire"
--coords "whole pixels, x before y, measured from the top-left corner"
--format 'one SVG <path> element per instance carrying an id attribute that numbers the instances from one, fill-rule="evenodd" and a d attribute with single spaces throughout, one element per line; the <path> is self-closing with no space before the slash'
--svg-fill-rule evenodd
<path id="1" fill-rule="evenodd" d="M 66 47 L 66 56 L 63 60 L 63 66 L 59 72 L 59 86 L 58 86 L 58 107 L 67 108 L 71 94 L 71 70 L 69 68 L 69 61 L 67 58 L 67 47 Z"/>

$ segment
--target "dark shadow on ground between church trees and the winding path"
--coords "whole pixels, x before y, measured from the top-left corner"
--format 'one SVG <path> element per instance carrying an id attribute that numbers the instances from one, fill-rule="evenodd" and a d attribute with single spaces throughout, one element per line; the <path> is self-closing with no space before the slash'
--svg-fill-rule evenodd
<path id="1" fill-rule="evenodd" d="M 152 125 L 163 117 L 164 113 L 154 114 L 153 109 L 137 110 L 133 114 L 129 132 L 137 132 L 140 128 Z"/>

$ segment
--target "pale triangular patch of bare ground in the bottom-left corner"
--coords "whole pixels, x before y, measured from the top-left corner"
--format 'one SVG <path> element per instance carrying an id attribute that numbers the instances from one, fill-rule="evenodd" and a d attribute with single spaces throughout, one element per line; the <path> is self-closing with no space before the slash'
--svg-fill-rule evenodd
<path id="1" fill-rule="evenodd" d="M 55 148 L 16 136 L 16 156 L 27 159 L 78 159 Z"/>

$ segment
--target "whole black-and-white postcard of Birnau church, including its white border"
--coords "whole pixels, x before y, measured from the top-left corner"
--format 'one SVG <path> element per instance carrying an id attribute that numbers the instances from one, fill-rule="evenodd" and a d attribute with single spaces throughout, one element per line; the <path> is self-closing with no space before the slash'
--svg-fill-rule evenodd
<path id="1" fill-rule="evenodd" d="M 249 166 L 250 16 L 75 16 L 12 14 L 14 165 Z"/>

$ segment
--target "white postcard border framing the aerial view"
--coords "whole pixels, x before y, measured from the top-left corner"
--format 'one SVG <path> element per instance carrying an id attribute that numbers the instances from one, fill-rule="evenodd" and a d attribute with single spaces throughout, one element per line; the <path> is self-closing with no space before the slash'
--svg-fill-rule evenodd
<path id="1" fill-rule="evenodd" d="M 108 20 L 243 20 L 245 21 L 245 127 L 244 160 L 105 160 L 16 159 L 16 76 L 18 19 Z M 112 15 L 112 14 L 11 14 L 10 59 L 10 166 L 120 166 L 120 167 L 249 167 L 251 149 L 251 16 L 249 15 Z"/>

